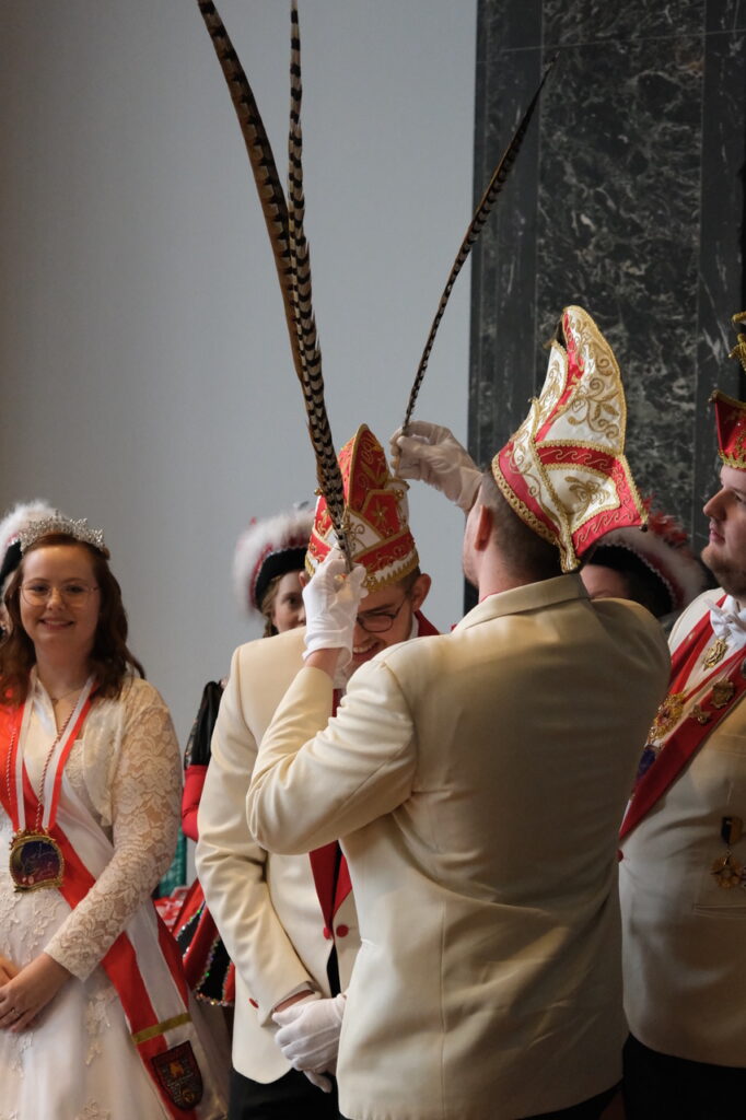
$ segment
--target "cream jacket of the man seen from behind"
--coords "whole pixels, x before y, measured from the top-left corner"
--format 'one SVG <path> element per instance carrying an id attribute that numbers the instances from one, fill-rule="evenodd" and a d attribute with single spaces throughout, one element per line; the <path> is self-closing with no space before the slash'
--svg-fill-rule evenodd
<path id="1" fill-rule="evenodd" d="M 578 576 L 487 598 L 332 683 L 305 668 L 260 749 L 259 842 L 343 838 L 362 949 L 352 1120 L 515 1120 L 621 1075 L 617 831 L 669 655 Z"/>

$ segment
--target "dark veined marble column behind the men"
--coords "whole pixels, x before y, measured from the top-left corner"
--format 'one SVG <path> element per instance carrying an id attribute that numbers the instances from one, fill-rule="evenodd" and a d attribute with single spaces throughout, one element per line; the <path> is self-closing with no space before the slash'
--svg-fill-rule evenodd
<path id="1" fill-rule="evenodd" d="M 581 304 L 619 361 L 643 493 L 703 541 L 707 399 L 746 396 L 727 355 L 744 291 L 746 6 L 479 0 L 475 197 L 559 52 L 475 251 L 469 442 L 486 463 L 540 389 L 543 343 Z"/>

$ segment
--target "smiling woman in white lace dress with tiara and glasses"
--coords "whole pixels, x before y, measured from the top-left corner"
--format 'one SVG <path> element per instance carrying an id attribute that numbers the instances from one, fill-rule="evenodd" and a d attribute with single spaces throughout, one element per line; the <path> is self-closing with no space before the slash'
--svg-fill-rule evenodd
<path id="1" fill-rule="evenodd" d="M 21 551 L 0 644 L 0 1120 L 217 1120 L 150 900 L 179 820 L 168 709 L 102 535 L 56 519 Z"/>

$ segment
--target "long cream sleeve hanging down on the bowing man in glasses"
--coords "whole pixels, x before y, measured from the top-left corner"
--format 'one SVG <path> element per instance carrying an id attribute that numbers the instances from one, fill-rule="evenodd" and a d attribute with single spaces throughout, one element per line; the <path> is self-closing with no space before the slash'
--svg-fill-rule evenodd
<path id="1" fill-rule="evenodd" d="M 241 650 L 236 650 L 199 803 L 196 866 L 221 937 L 259 1005 L 260 1021 L 267 1024 L 282 999 L 305 983 L 314 989 L 316 984 L 272 906 L 267 852 L 254 842 L 246 824 L 246 791 L 257 743 L 243 717 L 241 689 Z"/>

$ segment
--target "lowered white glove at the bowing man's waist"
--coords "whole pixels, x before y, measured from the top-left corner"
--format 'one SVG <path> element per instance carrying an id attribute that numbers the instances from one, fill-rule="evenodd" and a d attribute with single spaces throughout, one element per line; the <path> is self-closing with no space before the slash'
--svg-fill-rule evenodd
<path id="1" fill-rule="evenodd" d="M 283 1011 L 274 1011 L 272 1019 L 280 1028 L 274 1040 L 293 1070 L 307 1074 L 335 1072 L 346 1001 L 341 993 L 329 999 L 302 1000 Z"/>

